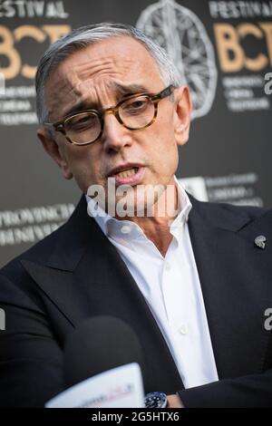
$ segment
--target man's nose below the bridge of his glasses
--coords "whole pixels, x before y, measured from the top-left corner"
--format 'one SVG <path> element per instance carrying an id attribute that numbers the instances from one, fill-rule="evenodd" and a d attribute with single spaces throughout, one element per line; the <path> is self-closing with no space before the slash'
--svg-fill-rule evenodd
<path id="1" fill-rule="evenodd" d="M 114 116 L 114 114 L 104 114 L 104 126 L 102 132 L 102 144 L 107 151 L 119 151 L 125 146 L 131 146 L 131 131 L 126 129 Z"/>

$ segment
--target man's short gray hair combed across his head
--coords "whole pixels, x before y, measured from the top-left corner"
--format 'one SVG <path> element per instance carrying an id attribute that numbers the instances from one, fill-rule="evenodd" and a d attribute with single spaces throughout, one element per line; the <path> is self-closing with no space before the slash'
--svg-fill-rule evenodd
<path id="1" fill-rule="evenodd" d="M 182 83 L 180 74 L 175 65 L 171 63 L 167 53 L 137 28 L 127 24 L 115 23 L 85 25 L 74 29 L 70 34 L 64 35 L 53 43 L 38 64 L 35 87 L 36 111 L 40 123 L 49 120 L 47 107 L 44 103 L 44 87 L 50 73 L 74 52 L 87 47 L 89 44 L 121 35 L 130 36 L 145 46 L 157 63 L 160 77 L 166 85 L 180 86 Z"/>

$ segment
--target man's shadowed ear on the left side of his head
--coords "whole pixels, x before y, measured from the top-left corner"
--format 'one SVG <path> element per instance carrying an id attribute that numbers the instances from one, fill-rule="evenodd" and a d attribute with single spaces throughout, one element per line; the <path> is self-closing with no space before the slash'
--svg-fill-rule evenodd
<path id="1" fill-rule="evenodd" d="M 37 136 L 41 140 L 44 150 L 53 160 L 57 163 L 59 168 L 62 171 L 63 178 L 72 179 L 73 173 L 69 167 L 69 163 L 66 160 L 64 150 L 60 147 L 58 142 L 53 138 L 53 134 L 48 129 L 39 129 L 37 131 Z"/>

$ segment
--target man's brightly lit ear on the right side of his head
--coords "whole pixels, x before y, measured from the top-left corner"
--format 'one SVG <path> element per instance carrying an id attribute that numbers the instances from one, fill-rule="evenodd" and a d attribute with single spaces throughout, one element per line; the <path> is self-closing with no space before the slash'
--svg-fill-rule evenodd
<path id="1" fill-rule="evenodd" d="M 189 88 L 181 86 L 175 91 L 174 131 L 178 145 L 184 145 L 189 139 L 189 124 L 192 111 Z"/>

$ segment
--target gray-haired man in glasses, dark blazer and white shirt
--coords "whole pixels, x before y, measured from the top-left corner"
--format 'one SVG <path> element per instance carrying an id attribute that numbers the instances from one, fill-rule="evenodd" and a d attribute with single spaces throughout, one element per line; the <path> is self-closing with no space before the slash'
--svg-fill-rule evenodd
<path id="1" fill-rule="evenodd" d="M 191 102 L 166 55 L 129 26 L 90 25 L 49 48 L 36 87 L 38 137 L 83 197 L 1 271 L 1 403 L 61 392 L 67 335 L 112 315 L 144 348 L 145 391 L 169 407 L 271 406 L 271 211 L 181 188 Z"/>

